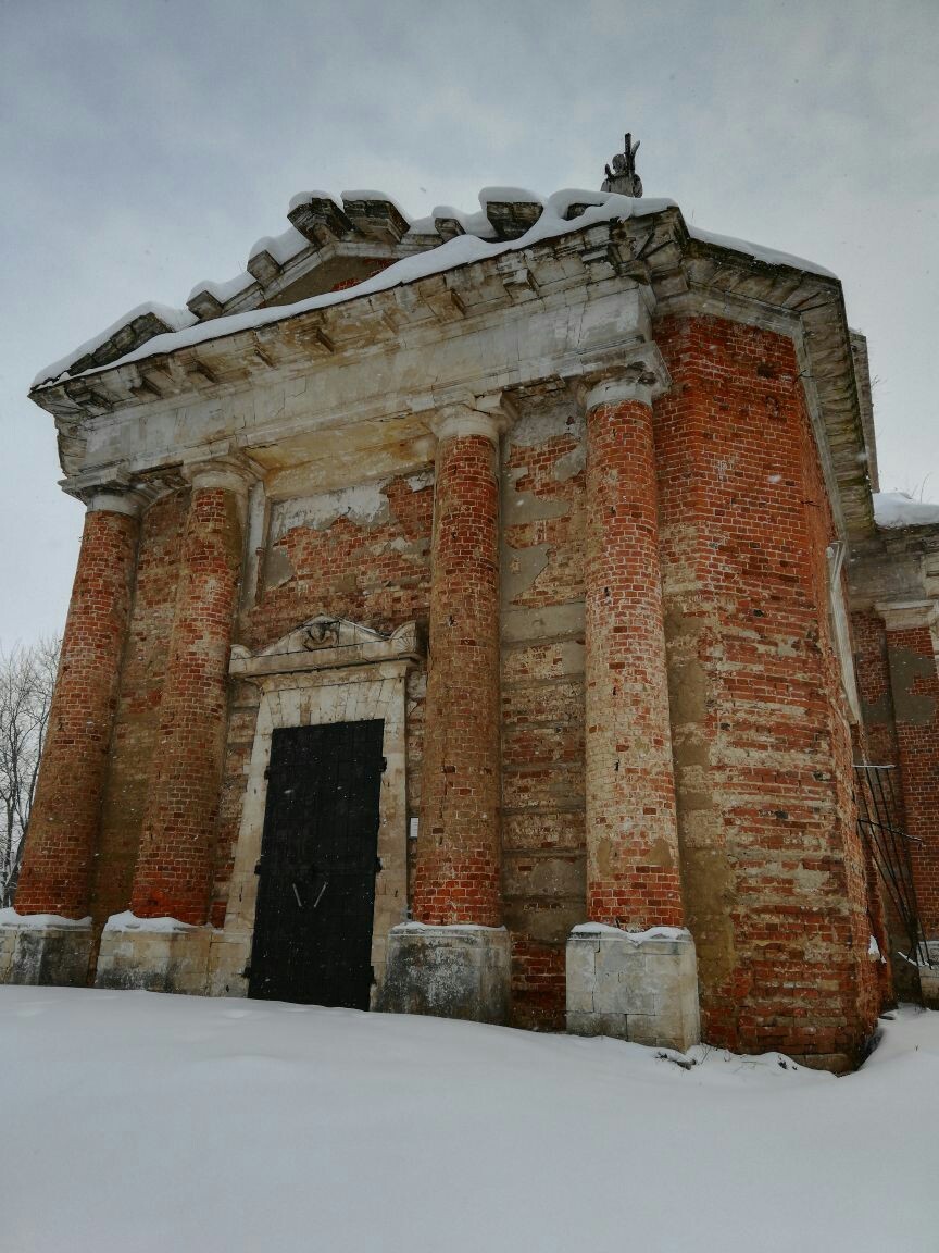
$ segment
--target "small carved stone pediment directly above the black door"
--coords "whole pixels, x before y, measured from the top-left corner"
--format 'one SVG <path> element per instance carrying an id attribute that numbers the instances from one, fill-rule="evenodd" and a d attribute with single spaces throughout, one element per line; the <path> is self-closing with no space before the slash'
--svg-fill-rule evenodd
<path id="1" fill-rule="evenodd" d="M 417 658 L 421 639 L 417 623 L 404 623 L 383 635 L 348 618 L 317 614 L 300 623 L 282 639 L 257 653 L 235 644 L 230 674 L 285 674 L 290 670 L 328 669 L 341 665 L 366 665 L 401 658 Z"/>

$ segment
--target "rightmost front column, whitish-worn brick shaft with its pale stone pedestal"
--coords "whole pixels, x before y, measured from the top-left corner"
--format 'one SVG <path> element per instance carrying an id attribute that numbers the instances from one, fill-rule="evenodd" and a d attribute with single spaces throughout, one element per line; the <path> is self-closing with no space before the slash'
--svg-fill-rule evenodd
<path id="1" fill-rule="evenodd" d="M 645 355 L 586 396 L 588 925 L 568 942 L 567 1022 L 685 1048 L 699 1035 L 691 937 L 630 935 L 684 921 L 651 407 L 664 367 Z"/>

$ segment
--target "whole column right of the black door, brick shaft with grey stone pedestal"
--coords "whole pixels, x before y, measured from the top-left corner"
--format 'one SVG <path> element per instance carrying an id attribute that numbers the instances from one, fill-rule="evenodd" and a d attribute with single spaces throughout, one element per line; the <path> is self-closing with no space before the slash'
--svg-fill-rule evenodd
<path id="1" fill-rule="evenodd" d="M 413 917 L 426 926 L 419 935 L 392 932 L 386 980 L 391 1007 L 486 1021 L 505 1019 L 508 995 L 500 878 L 501 425 L 464 406 L 442 411 L 434 424 L 427 724 L 412 897 Z"/>

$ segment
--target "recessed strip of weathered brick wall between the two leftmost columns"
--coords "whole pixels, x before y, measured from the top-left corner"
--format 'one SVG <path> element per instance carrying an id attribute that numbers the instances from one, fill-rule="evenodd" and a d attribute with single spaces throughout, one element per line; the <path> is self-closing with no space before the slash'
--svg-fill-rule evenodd
<path id="1" fill-rule="evenodd" d="M 103 926 L 130 903 L 179 580 L 188 492 L 155 501 L 141 520 L 136 590 L 101 808 L 91 917 Z"/>

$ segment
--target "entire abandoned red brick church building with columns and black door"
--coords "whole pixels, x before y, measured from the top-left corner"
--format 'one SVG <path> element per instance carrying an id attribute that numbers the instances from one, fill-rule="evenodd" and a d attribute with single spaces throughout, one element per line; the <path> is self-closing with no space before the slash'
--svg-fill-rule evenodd
<path id="1" fill-rule="evenodd" d="M 86 512 L 0 977 L 830 1069 L 931 994 L 939 520 L 839 279 L 634 157 L 297 195 L 38 376 Z"/>

